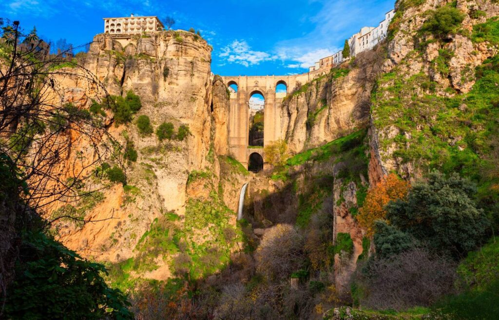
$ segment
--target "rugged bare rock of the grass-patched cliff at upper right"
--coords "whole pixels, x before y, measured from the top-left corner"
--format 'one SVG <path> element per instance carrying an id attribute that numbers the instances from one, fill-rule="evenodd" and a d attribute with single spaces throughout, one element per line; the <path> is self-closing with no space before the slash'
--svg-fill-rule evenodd
<path id="1" fill-rule="evenodd" d="M 393 39 L 388 42 L 388 59 L 383 63 L 385 72 L 393 72 L 397 78 L 404 79 L 405 82 L 413 81 L 413 95 L 423 96 L 424 94 L 434 94 L 436 97 L 453 97 L 457 94 L 468 93 L 475 84 L 475 68 L 482 62 L 497 54 L 498 48 L 488 42 L 473 42 L 471 34 L 473 25 L 485 22 L 488 18 L 499 14 L 499 4 L 490 0 L 458 0 L 456 8 L 464 14 L 464 21 L 460 26 L 460 31 L 451 34 L 444 41 L 436 40 L 433 35 L 421 35 L 420 29 L 427 19 L 425 12 L 435 10 L 436 8 L 449 5 L 446 0 L 428 0 L 420 5 L 408 5 L 407 1 L 397 1 L 397 16 L 394 18 L 390 28 L 393 31 Z M 474 12 L 481 12 L 479 16 L 474 16 Z M 421 42 L 428 44 L 421 47 Z M 448 54 L 448 58 L 440 56 Z M 444 72 L 437 66 L 437 60 L 447 59 Z M 424 83 L 415 79 L 418 75 L 427 77 L 426 83 L 435 83 L 434 92 L 424 88 Z M 416 83 L 417 82 L 417 83 Z M 393 81 L 380 83 L 380 88 L 386 89 L 393 85 Z M 405 93 L 405 92 L 404 92 Z M 404 103 L 411 103 L 409 92 L 407 96 L 401 94 L 400 98 Z M 397 171 L 405 178 L 414 179 L 421 176 L 420 166 L 422 163 L 415 161 L 406 161 L 397 156 L 397 150 L 400 146 L 393 142 L 395 137 L 405 135 L 409 141 L 412 135 L 409 132 L 401 130 L 400 126 L 391 124 L 382 124 L 380 122 L 386 115 L 379 112 L 383 101 L 390 99 L 385 91 L 381 97 L 372 106 L 372 139 L 371 157 L 373 166 L 371 168 L 372 177 L 379 177 L 379 173 L 388 171 Z M 380 102 L 381 101 L 381 102 Z M 428 114 L 430 122 L 436 118 L 437 107 L 434 108 L 435 114 Z M 396 115 L 392 115 L 388 122 L 394 122 Z M 377 125 L 376 125 L 377 123 Z M 418 123 L 418 132 L 424 131 L 428 124 Z M 451 143 L 459 141 L 462 137 L 449 137 Z M 380 143 L 381 142 L 381 143 Z"/>

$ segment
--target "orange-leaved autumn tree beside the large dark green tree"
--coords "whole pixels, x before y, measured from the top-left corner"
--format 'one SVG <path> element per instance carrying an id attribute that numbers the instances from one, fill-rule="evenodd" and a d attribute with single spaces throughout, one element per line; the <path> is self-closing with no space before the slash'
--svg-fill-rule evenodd
<path id="1" fill-rule="evenodd" d="M 385 206 L 388 202 L 405 198 L 409 187 L 409 182 L 400 179 L 395 173 L 390 173 L 367 192 L 357 220 L 366 230 L 368 237 L 374 234 L 374 221 L 385 218 Z"/>

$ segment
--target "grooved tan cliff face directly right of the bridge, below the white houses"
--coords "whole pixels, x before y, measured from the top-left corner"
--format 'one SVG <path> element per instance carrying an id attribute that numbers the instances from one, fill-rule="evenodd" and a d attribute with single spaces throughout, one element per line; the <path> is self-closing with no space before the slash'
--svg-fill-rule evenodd
<path id="1" fill-rule="evenodd" d="M 317 147 L 368 124 L 371 90 L 384 56 L 382 47 L 361 53 L 283 100 L 281 136 L 291 152 Z"/>

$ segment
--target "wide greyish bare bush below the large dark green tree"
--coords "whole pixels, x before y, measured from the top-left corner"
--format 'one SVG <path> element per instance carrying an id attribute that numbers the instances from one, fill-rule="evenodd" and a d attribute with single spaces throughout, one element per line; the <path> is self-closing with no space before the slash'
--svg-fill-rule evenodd
<path id="1" fill-rule="evenodd" d="M 423 249 L 399 254 L 393 259 L 370 261 L 360 287 L 360 304 L 373 309 L 406 310 L 429 307 L 453 292 L 456 263 Z"/>

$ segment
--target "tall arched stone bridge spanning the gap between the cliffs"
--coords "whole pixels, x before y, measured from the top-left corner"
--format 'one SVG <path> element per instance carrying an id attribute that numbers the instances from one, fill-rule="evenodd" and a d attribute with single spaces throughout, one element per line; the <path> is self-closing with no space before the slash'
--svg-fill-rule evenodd
<path id="1" fill-rule="evenodd" d="M 328 70 L 327 70 L 328 71 Z M 281 130 L 281 104 L 282 99 L 292 92 L 294 88 L 305 84 L 320 74 L 320 72 L 307 72 L 298 75 L 287 76 L 222 76 L 227 87 L 235 84 L 237 92 L 231 92 L 231 106 L 229 110 L 229 150 L 230 153 L 247 167 L 250 164 L 250 156 L 258 154 L 263 162 L 264 154 L 262 148 L 249 148 L 250 132 L 250 97 L 259 93 L 263 96 L 264 118 L 263 118 L 263 145 L 272 141 L 282 139 Z M 276 92 L 276 86 L 284 84 L 286 92 Z"/>

